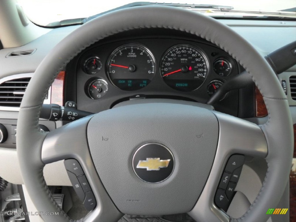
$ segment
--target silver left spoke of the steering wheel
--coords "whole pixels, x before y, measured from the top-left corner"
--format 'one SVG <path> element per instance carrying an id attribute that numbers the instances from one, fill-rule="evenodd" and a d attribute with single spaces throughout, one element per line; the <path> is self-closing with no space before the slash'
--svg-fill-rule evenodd
<path id="1" fill-rule="evenodd" d="M 44 164 L 48 164 L 69 158 L 77 160 L 79 162 L 78 165 L 81 165 L 81 170 L 89 182 L 91 191 L 85 192 L 84 194 L 81 187 L 74 187 L 74 184 L 73 187 L 83 192 L 82 194 L 85 195 L 84 202 L 88 201 L 87 198 L 90 193 L 94 195 L 96 200 L 94 202 L 92 200 L 92 204 L 96 204 L 96 207 L 86 215 L 83 221 L 118 221 L 122 214 L 117 210 L 104 189 L 89 153 L 86 128 L 91 117 L 92 116 L 88 116 L 76 120 L 49 132 L 42 146 L 42 161 Z M 74 179 L 77 180 L 79 184 L 75 174 L 70 171 L 69 173 L 70 175 L 74 175 Z M 79 186 L 78 184 L 77 186 Z"/>

